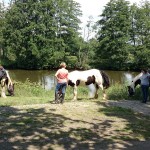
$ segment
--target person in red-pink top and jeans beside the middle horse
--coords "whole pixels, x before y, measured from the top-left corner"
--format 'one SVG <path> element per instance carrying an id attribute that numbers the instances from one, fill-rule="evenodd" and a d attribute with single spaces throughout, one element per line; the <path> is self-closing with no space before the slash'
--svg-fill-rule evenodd
<path id="1" fill-rule="evenodd" d="M 65 92 L 66 92 L 66 87 L 67 87 L 67 82 L 68 82 L 68 70 L 66 69 L 66 63 L 62 62 L 60 64 L 60 69 L 57 70 L 55 73 L 55 77 L 57 79 L 57 85 L 55 88 L 55 103 L 58 103 L 58 93 L 62 92 L 62 98 L 61 98 L 61 103 L 64 102 L 65 98 Z"/>

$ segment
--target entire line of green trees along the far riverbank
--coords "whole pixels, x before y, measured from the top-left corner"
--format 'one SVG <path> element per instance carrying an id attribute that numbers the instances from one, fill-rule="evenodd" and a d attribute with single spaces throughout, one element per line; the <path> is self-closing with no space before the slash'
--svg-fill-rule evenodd
<path id="1" fill-rule="evenodd" d="M 138 70 L 150 67 L 150 2 L 110 0 L 100 19 L 89 18 L 87 37 L 73 0 L 0 3 L 0 63 L 9 68 Z M 96 32 L 90 39 L 90 34 Z"/>

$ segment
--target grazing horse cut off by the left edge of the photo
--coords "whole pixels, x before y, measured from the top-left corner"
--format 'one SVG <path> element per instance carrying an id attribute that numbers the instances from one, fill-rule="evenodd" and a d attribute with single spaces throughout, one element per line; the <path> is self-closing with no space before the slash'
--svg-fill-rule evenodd
<path id="1" fill-rule="evenodd" d="M 14 95 L 14 84 L 12 83 L 8 71 L 0 67 L 0 84 L 1 84 L 1 97 L 6 98 L 5 86 L 10 96 Z"/>

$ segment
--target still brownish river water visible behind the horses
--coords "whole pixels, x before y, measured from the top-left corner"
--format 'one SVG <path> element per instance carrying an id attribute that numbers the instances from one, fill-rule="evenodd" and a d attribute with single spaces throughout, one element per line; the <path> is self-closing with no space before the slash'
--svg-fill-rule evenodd
<path id="1" fill-rule="evenodd" d="M 31 82 L 36 82 L 44 89 L 53 89 L 56 85 L 54 74 L 56 71 L 51 70 L 8 70 L 12 80 L 25 82 L 29 79 Z M 109 71 L 105 72 L 110 77 L 111 84 L 130 83 L 131 80 L 139 74 L 139 72 L 132 71 Z"/>

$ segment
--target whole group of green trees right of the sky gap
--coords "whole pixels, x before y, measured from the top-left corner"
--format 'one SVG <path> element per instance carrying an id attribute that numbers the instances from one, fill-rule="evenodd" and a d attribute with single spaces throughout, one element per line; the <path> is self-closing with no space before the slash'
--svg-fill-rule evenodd
<path id="1" fill-rule="evenodd" d="M 150 3 L 139 8 L 124 0 L 110 1 L 98 21 L 97 63 L 125 70 L 150 67 Z M 149 38 L 150 39 L 150 38 Z"/>

